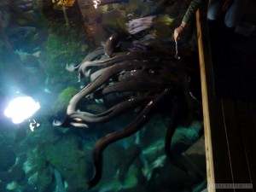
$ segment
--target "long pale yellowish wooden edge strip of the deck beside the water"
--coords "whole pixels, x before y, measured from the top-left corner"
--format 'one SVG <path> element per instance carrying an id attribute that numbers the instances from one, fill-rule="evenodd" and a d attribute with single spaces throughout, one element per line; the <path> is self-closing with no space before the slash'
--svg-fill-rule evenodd
<path id="1" fill-rule="evenodd" d="M 201 15 L 200 11 L 196 12 L 196 27 L 197 27 L 197 40 L 199 49 L 199 61 L 201 71 L 201 95 L 202 95 L 202 108 L 203 108 L 203 121 L 205 131 L 205 145 L 206 145 L 206 160 L 207 160 L 207 183 L 215 183 L 213 155 L 212 155 L 212 136 L 211 136 L 211 124 L 210 113 L 208 104 L 208 91 L 207 91 L 207 77 L 206 77 L 206 65 L 205 65 L 205 53 L 202 42 L 201 32 Z M 209 192 L 215 192 L 214 188 L 208 188 Z"/>

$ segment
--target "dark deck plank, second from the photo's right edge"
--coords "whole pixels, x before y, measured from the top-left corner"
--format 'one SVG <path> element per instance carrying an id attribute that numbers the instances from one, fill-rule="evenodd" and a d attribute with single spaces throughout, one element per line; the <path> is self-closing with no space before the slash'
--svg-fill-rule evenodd
<path id="1" fill-rule="evenodd" d="M 241 135 L 241 122 L 239 116 L 241 114 L 236 110 L 236 102 L 233 100 L 222 99 L 222 106 L 225 131 L 230 152 L 230 166 L 233 182 L 251 183 L 250 172 L 247 166 L 247 154 L 244 150 L 243 138 Z"/>

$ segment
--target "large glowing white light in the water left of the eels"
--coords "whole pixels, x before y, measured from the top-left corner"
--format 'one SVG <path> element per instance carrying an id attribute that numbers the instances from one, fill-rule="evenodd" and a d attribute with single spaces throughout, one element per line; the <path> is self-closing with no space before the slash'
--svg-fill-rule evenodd
<path id="1" fill-rule="evenodd" d="M 6 117 L 11 118 L 13 123 L 20 124 L 32 116 L 40 108 L 39 102 L 35 102 L 30 96 L 17 97 L 9 102 L 4 110 Z"/>

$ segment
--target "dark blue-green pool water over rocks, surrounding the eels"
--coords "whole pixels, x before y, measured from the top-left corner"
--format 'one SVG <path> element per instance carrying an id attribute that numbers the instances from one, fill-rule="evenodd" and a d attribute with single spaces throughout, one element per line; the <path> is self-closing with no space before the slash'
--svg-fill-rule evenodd
<path id="1" fill-rule="evenodd" d="M 147 102 L 120 115 L 118 113 L 104 123 L 90 123 L 85 129 L 52 125 L 54 119 L 65 118 L 69 100 L 90 83 L 90 79 L 78 82 L 78 72 L 68 72 L 66 66 L 78 66 L 86 55 L 96 55 L 102 46 L 110 53 L 114 48 L 113 55 L 121 51 L 150 50 L 152 55 L 157 52 L 158 58 L 154 61 L 163 55 L 172 58 L 175 54 L 173 29 L 182 20 L 187 4 L 185 1 L 108 0 L 94 3 L 79 0 L 66 8 L 49 0 L 1 1 L 1 192 L 169 192 L 206 188 L 200 102 L 193 100 L 192 110 L 186 105 L 179 110 L 184 107 L 179 104 L 186 100 L 186 94 L 174 99 L 180 96 L 174 92 L 171 97 L 160 101 L 150 111 L 151 116 L 140 131 L 110 144 L 103 152 L 102 179 L 90 190 L 86 189 L 86 183 L 95 170 L 92 160 L 95 143 L 140 117 Z M 161 71 L 151 69 L 149 72 L 154 72 L 152 81 L 162 82 L 165 78 L 173 87 L 183 84 L 179 91 L 191 91 L 200 100 L 196 43 L 192 31 L 188 30 L 179 41 L 182 61 L 174 61 L 174 67 L 171 67 L 177 76 L 172 77 L 170 71 L 164 71 L 157 78 L 155 72 Z M 114 33 L 119 39 L 112 46 L 108 38 Z M 102 53 L 93 59 L 101 61 L 106 58 Z M 139 60 L 137 56 L 135 60 Z M 180 62 L 182 66 L 176 66 Z M 142 78 L 142 75 L 138 77 Z M 116 79 L 108 81 L 112 84 L 118 82 Z M 150 90 L 146 95 L 160 95 L 165 90 L 161 89 Z M 140 90 L 132 94 L 131 91 L 121 92 L 109 96 L 104 102 L 88 98 L 80 103 L 79 109 L 102 113 L 112 104 L 137 98 L 140 94 Z M 17 96 L 32 96 L 41 108 L 22 123 L 13 124 L 3 115 L 3 110 Z M 175 105 L 177 114 L 173 113 Z M 172 146 L 170 160 L 165 153 L 166 130 L 176 120 L 172 144 L 167 143 Z M 32 122 L 36 122 L 32 124 L 35 125 L 33 131 L 30 129 Z"/>

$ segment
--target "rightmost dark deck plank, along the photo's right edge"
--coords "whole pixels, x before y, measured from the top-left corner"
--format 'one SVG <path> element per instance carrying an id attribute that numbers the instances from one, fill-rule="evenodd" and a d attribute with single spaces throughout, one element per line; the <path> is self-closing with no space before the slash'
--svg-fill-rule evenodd
<path id="1" fill-rule="evenodd" d="M 247 183 L 253 183 L 253 186 L 256 186 L 256 131 L 254 129 L 256 108 L 253 108 L 252 103 L 236 101 L 236 110 L 251 179 Z"/>

